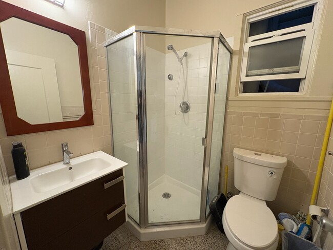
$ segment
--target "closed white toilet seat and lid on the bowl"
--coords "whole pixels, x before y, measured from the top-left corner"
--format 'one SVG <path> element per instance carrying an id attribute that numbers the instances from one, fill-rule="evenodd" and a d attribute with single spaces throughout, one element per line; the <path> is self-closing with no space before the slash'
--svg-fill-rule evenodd
<path id="1" fill-rule="evenodd" d="M 226 203 L 223 220 L 228 233 L 245 248 L 269 249 L 277 243 L 276 219 L 261 200 L 242 193 L 232 197 Z"/>

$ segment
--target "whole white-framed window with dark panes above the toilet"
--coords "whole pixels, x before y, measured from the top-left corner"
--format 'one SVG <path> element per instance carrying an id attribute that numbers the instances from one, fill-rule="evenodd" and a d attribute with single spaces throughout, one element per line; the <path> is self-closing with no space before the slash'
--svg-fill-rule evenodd
<path id="1" fill-rule="evenodd" d="M 240 93 L 303 92 L 319 0 L 246 19 Z"/>

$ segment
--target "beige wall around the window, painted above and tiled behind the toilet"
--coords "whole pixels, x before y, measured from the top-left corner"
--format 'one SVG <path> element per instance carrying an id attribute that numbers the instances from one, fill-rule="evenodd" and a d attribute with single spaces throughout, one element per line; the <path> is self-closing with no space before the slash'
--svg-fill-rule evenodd
<path id="1" fill-rule="evenodd" d="M 315 63 L 307 75 L 309 91 L 299 96 L 238 96 L 243 14 L 278 2 L 209 0 L 203 3 L 200 0 L 166 0 L 165 5 L 166 27 L 217 30 L 224 37 L 234 36 L 221 173 L 224 175 L 225 164 L 230 164 L 228 188 L 237 192 L 233 186 L 234 147 L 286 156 L 288 166 L 277 200 L 269 203 L 275 214 L 307 209 L 322 146 L 323 126 L 333 93 L 333 71 L 330 70 L 333 65 L 333 50 L 330 46 L 333 38 L 333 30 L 330 28 L 333 22 L 333 2 L 325 1 L 321 8 L 322 22 L 316 29 Z M 247 123 L 248 120 L 251 123 Z M 306 123 L 310 124 L 308 132 L 302 131 L 302 124 Z M 308 154 L 303 154 L 303 150 Z"/>

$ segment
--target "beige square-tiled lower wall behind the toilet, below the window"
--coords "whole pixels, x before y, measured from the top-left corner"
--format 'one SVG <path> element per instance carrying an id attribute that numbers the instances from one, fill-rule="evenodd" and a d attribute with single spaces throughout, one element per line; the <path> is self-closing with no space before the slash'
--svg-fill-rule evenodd
<path id="1" fill-rule="evenodd" d="M 277 198 L 267 204 L 276 215 L 280 212 L 295 214 L 300 210 L 307 212 L 326 121 L 326 115 L 227 111 L 221 188 L 228 164 L 228 191 L 238 193 L 234 188 L 235 147 L 284 156 L 288 163 Z"/>

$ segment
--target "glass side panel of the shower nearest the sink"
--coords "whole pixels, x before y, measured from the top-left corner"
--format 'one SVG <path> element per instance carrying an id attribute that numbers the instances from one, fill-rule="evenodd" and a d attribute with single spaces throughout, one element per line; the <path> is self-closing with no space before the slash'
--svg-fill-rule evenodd
<path id="1" fill-rule="evenodd" d="M 108 46 L 108 69 L 114 156 L 128 163 L 127 213 L 139 223 L 137 84 L 133 35 Z"/>

